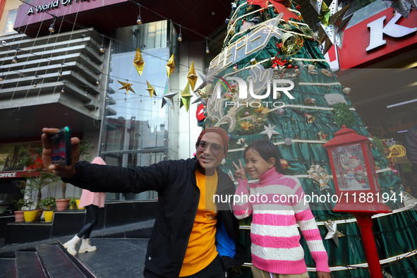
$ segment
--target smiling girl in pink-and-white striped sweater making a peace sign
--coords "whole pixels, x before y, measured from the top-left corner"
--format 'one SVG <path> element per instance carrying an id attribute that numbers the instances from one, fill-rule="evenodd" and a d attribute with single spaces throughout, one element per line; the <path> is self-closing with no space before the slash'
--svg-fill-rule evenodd
<path id="1" fill-rule="evenodd" d="M 319 278 L 330 278 L 327 252 L 320 231 L 315 224 L 300 181 L 282 173 L 281 155 L 270 141 L 258 140 L 250 144 L 244 154 L 245 168 L 239 160 L 235 176 L 238 179 L 234 203 L 236 218 L 253 214 L 250 224 L 252 272 L 255 278 L 308 277 L 304 250 L 300 245 L 301 231 L 316 264 Z M 250 183 L 250 179 L 259 179 Z"/>

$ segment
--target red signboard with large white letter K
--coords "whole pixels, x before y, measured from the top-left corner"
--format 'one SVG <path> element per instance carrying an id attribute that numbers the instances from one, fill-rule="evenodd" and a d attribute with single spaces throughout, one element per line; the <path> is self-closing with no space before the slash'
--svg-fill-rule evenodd
<path id="1" fill-rule="evenodd" d="M 333 46 L 328 52 L 330 63 L 339 58 L 339 68 L 363 68 L 416 49 L 417 10 L 411 9 L 409 18 L 393 12 L 387 8 L 346 29 L 342 48 L 337 53 Z M 337 68 L 332 64 L 332 68 Z"/>

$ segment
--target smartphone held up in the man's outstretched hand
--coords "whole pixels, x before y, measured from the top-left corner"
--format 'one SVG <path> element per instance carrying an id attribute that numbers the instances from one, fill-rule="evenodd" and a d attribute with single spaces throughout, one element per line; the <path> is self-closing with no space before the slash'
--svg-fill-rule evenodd
<path id="1" fill-rule="evenodd" d="M 61 128 L 51 137 L 52 164 L 71 165 L 71 131 L 68 126 Z"/>

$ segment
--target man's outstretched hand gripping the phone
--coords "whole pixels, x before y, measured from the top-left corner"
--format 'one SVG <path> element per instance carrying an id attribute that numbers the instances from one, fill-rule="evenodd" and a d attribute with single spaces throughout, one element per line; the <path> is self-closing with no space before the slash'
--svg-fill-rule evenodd
<path id="1" fill-rule="evenodd" d="M 42 128 L 42 145 L 44 146 L 44 150 L 42 152 L 42 160 L 44 162 L 45 168 L 52 172 L 55 176 L 60 176 L 61 178 L 70 179 L 75 176 L 75 162 L 78 162 L 79 155 L 80 155 L 80 139 L 74 137 L 71 138 L 71 159 L 54 159 L 56 163 L 64 163 L 61 164 L 53 164 L 53 150 L 52 150 L 52 136 L 56 136 L 56 134 L 60 130 L 58 128 Z M 55 134 L 54 134 L 55 133 Z M 69 133 L 67 134 L 69 136 Z M 55 154 L 56 155 L 56 154 Z M 66 155 L 62 155 L 65 156 Z M 66 162 L 69 165 L 66 165 Z"/>

